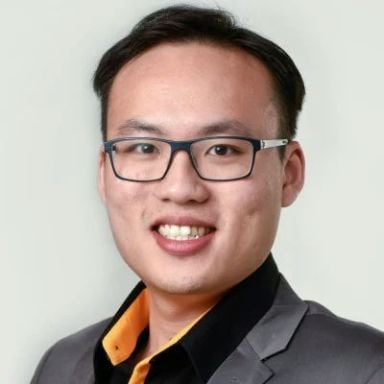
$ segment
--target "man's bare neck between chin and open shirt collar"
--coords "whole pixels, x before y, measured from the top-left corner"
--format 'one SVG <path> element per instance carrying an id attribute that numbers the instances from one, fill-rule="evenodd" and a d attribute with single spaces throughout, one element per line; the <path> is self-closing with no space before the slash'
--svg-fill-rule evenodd
<path id="1" fill-rule="evenodd" d="M 222 294 L 171 295 L 148 288 L 149 339 L 141 357 L 157 352 L 179 331 L 207 312 Z"/>

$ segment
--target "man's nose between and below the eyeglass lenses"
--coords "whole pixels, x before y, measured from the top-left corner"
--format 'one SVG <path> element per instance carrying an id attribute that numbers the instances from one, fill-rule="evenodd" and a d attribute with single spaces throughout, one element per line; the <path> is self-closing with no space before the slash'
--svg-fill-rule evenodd
<path id="1" fill-rule="evenodd" d="M 193 168 L 188 153 L 177 151 L 166 176 L 157 183 L 155 194 L 160 200 L 185 205 L 205 202 L 210 192 L 207 182 Z"/>

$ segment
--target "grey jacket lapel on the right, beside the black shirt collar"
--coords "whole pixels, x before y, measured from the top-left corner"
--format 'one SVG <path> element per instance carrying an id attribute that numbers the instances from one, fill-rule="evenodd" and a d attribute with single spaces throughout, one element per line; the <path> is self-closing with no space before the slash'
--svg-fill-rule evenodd
<path id="1" fill-rule="evenodd" d="M 208 384 L 263 384 L 274 372 L 268 357 L 284 351 L 308 305 L 281 277 L 272 307 L 212 375 Z"/>

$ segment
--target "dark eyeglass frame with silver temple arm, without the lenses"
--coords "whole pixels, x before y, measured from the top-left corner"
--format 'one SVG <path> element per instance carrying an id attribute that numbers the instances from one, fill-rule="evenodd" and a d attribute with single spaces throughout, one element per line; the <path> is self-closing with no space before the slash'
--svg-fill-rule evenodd
<path id="1" fill-rule="evenodd" d="M 253 148 L 253 155 L 252 155 L 252 162 L 249 167 L 249 171 L 240 177 L 236 178 L 231 178 L 231 179 L 211 179 L 208 177 L 204 177 L 200 174 L 197 165 L 195 163 L 195 160 L 193 158 L 192 152 L 191 152 L 191 146 L 192 144 L 199 142 L 199 141 L 205 141 L 205 140 L 213 140 L 213 139 L 239 139 L 239 140 L 244 140 L 248 141 L 249 143 L 252 144 Z M 113 161 L 113 145 L 121 142 L 121 141 L 130 141 L 130 140 L 154 140 L 154 141 L 161 141 L 163 143 L 167 143 L 171 147 L 171 153 L 169 156 L 169 161 L 168 165 L 161 177 L 158 177 L 156 179 L 149 179 L 149 180 L 136 180 L 136 179 L 129 179 L 126 177 L 123 177 L 118 174 L 115 168 L 115 164 Z M 114 175 L 121 180 L 126 180 L 126 181 L 134 181 L 137 183 L 148 183 L 152 181 L 160 181 L 164 179 L 164 177 L 167 175 L 171 165 L 172 161 L 174 158 L 174 155 L 177 151 L 185 151 L 188 153 L 188 157 L 191 160 L 193 169 L 196 171 L 197 175 L 202 179 L 206 181 L 236 181 L 236 180 L 241 180 L 249 177 L 253 171 L 253 167 L 255 164 L 255 157 L 256 157 L 256 152 L 261 151 L 263 149 L 268 149 L 268 148 L 276 148 L 276 147 L 282 147 L 285 146 L 289 143 L 288 139 L 268 139 L 268 140 L 263 140 L 263 139 L 254 139 L 252 137 L 246 137 L 246 136 L 207 136 L 207 137 L 199 137 L 196 139 L 192 140 L 168 140 L 168 139 L 163 139 L 159 137 L 134 137 L 134 136 L 126 136 L 126 137 L 118 137 L 115 139 L 107 140 L 103 143 L 103 148 L 104 152 L 108 154 L 109 160 L 111 162 L 112 170 Z"/>

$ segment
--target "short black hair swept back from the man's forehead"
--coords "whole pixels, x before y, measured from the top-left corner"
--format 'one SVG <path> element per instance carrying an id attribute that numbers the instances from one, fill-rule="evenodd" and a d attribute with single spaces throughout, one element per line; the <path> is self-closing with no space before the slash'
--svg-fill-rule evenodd
<path id="1" fill-rule="evenodd" d="M 162 8 L 139 21 L 132 31 L 102 56 L 93 88 L 101 101 L 101 131 L 107 137 L 108 97 L 120 69 L 134 57 L 162 43 L 202 42 L 240 48 L 269 70 L 277 96 L 280 135 L 296 135 L 297 117 L 305 95 L 303 79 L 290 56 L 274 42 L 239 26 L 222 9 L 175 5 Z"/>

